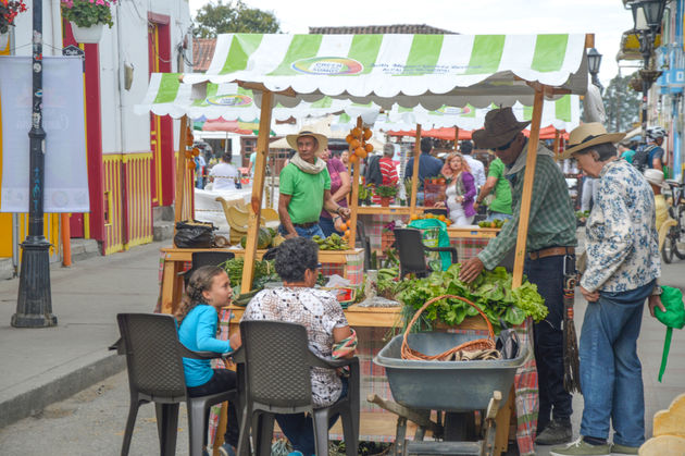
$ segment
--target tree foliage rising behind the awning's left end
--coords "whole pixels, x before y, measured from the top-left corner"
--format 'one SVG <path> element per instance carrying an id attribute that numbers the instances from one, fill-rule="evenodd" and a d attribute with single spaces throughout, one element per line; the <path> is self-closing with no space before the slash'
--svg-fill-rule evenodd
<path id="1" fill-rule="evenodd" d="M 281 23 L 273 12 L 249 8 L 240 0 L 224 3 L 210 2 L 200 8 L 195 16 L 197 35 L 214 38 L 217 34 L 258 33 L 275 34 L 281 32 Z"/>

